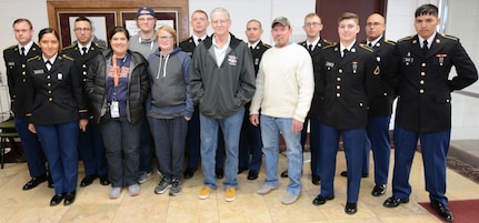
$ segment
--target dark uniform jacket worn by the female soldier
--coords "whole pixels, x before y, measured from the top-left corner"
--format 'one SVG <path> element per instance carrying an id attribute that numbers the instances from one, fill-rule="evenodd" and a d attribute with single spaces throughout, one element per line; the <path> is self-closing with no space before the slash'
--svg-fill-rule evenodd
<path id="1" fill-rule="evenodd" d="M 72 58 L 58 55 L 47 70 L 41 55 L 27 61 L 26 111 L 33 124 L 88 119 L 81 80 Z"/>

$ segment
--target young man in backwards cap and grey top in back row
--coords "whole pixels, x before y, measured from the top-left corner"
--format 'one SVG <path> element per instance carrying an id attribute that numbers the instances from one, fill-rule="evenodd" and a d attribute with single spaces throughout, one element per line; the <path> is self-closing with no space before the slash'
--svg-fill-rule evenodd
<path id="1" fill-rule="evenodd" d="M 140 7 L 137 11 L 137 26 L 140 31 L 136 36 L 130 37 L 131 51 L 141 53 L 144 59 L 158 49 L 156 39 L 154 26 L 157 24 L 157 17 L 150 7 Z M 151 160 L 152 160 L 151 133 L 150 125 L 147 120 L 141 124 L 140 134 L 140 176 L 138 183 L 144 183 L 151 175 Z M 159 166 L 159 165 L 158 165 Z M 157 171 L 160 173 L 159 171 Z"/>

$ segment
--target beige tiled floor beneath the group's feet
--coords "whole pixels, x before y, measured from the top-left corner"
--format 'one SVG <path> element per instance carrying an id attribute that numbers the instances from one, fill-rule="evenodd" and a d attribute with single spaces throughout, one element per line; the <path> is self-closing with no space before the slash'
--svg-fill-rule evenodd
<path id="1" fill-rule="evenodd" d="M 279 172 L 286 166 L 286 158 L 280 156 Z M 247 173 L 238 175 L 239 190 L 234 202 L 223 200 L 221 186 L 209 199 L 198 200 L 202 175 L 201 171 L 197 171 L 194 178 L 183 182 L 183 190 L 178 196 L 154 194 L 153 189 L 159 178 L 152 175 L 141 185 L 141 194 L 136 197 L 129 196 L 123 190 L 120 199 L 109 200 L 110 187 L 102 186 L 96 181 L 88 187 L 78 187 L 77 201 L 71 206 L 50 207 L 49 201 L 53 190 L 43 183 L 31 191 L 22 191 L 21 186 L 29 180 L 26 164 L 8 163 L 0 171 L 0 222 L 440 222 L 418 204 L 428 201 L 420 153 L 416 154 L 412 166 L 412 194 L 408 204 L 397 209 L 383 207 L 382 202 L 391 195 L 391 189 L 389 186 L 383 196 L 371 196 L 370 191 L 373 186 L 371 174 L 361 182 L 359 211 L 355 215 L 343 212 L 346 178 L 339 176 L 345 166 L 343 153 L 338 153 L 336 199 L 321 206 L 311 204 L 319 192 L 319 186 L 310 183 L 309 164 L 306 162 L 303 166 L 301 197 L 292 205 L 281 204 L 288 184 L 287 179 L 281 179 L 280 187 L 268 195 L 256 193 L 265 180 L 263 171 L 256 181 L 248 181 Z M 82 176 L 81 172 L 80 179 Z M 221 181 L 218 181 L 218 185 L 221 185 Z M 478 191 L 479 184 L 448 169 L 449 200 L 479 199 Z"/>

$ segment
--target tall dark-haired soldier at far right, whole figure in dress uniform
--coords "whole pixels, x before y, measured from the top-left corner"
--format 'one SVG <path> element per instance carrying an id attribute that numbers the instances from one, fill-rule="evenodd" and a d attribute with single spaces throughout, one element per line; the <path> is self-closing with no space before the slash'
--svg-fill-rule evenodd
<path id="1" fill-rule="evenodd" d="M 417 34 L 398 41 L 393 71 L 385 79 L 399 99 L 395 125 L 392 196 L 383 203 L 396 207 L 409 202 L 409 174 L 420 140 L 426 191 L 430 205 L 445 221 L 453 221 L 446 193 L 446 156 L 451 133 L 451 93 L 478 79 L 477 69 L 458 38 L 436 32 L 438 8 L 422 4 L 415 13 Z M 457 75 L 449 79 L 451 67 Z"/>

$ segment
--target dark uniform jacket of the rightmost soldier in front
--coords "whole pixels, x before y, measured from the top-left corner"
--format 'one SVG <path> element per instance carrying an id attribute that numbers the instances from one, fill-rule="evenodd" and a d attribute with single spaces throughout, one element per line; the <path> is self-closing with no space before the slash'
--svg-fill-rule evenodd
<path id="1" fill-rule="evenodd" d="M 459 39 L 437 33 L 423 55 L 418 36 L 398 41 L 395 70 L 386 80 L 398 90 L 396 126 L 421 133 L 451 128 L 451 93 L 478 79 L 478 71 Z M 457 75 L 449 79 L 451 67 Z"/>

